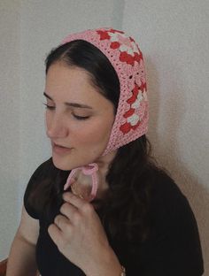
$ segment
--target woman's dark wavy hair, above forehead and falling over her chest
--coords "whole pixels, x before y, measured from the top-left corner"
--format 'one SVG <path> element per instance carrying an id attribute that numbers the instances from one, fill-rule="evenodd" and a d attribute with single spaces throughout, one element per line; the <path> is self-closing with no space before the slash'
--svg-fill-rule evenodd
<path id="1" fill-rule="evenodd" d="M 86 70 L 92 85 L 113 103 L 117 111 L 120 81 L 108 58 L 97 47 L 89 42 L 76 40 L 51 50 L 45 60 L 46 74 L 50 65 L 60 61 Z M 136 237 L 137 241 L 143 242 L 149 236 L 151 186 L 157 171 L 159 169 L 151 157 L 151 144 L 145 135 L 118 149 L 106 175 L 109 189 L 98 209 L 100 219 L 112 241 L 118 239 L 131 242 Z M 52 213 L 55 203 L 62 203 L 60 183 L 66 180 L 68 173 L 51 167 L 51 179 L 46 181 L 48 196 L 45 198 L 48 199 L 44 203 L 44 210 L 48 211 L 48 215 Z"/>

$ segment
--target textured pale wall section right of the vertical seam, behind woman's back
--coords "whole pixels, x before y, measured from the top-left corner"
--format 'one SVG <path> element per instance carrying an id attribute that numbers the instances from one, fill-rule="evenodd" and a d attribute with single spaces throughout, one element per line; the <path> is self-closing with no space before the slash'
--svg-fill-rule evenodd
<path id="1" fill-rule="evenodd" d="M 137 12 L 133 12 L 133 11 Z M 128 0 L 123 28 L 141 45 L 149 138 L 195 213 L 209 275 L 209 3 Z"/>

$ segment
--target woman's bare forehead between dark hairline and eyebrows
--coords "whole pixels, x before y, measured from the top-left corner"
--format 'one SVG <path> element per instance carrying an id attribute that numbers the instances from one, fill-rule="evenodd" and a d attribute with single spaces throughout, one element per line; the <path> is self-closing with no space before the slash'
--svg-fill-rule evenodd
<path id="1" fill-rule="evenodd" d="M 78 101 L 93 107 L 112 105 L 111 101 L 99 93 L 99 88 L 92 84 L 89 73 L 63 63 L 50 66 L 46 75 L 45 94 L 54 101 Z"/>

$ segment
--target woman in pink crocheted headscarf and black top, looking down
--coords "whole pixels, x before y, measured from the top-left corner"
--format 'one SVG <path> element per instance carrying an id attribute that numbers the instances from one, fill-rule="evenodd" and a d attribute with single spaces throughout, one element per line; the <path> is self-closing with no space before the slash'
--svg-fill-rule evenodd
<path id="1" fill-rule="evenodd" d="M 202 275 L 197 223 L 151 159 L 143 55 L 112 28 L 46 59 L 52 157 L 27 185 L 7 275 Z"/>

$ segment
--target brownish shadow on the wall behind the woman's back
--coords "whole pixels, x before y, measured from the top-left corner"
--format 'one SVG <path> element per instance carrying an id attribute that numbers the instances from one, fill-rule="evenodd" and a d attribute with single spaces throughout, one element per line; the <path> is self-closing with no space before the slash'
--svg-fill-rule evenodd
<path id="1" fill-rule="evenodd" d="M 181 68 L 180 70 L 174 68 L 173 63 L 168 62 L 169 66 L 172 66 L 172 71 L 176 70 L 176 72 L 174 71 L 174 74 L 169 71 L 166 72 L 163 76 L 165 78 L 163 85 L 165 86 L 160 88 L 156 67 L 149 58 L 146 58 L 150 101 L 148 137 L 151 140 L 153 156 L 157 158 L 159 165 L 166 167 L 166 170 L 172 175 L 182 193 L 187 196 L 190 202 L 197 219 L 206 276 L 209 275 L 209 191 L 206 190 L 204 183 L 198 182 L 197 176 L 190 172 L 187 164 L 183 163 L 183 153 L 179 145 L 179 142 L 183 140 L 180 126 L 186 111 L 185 101 L 187 99 L 185 93 L 183 93 L 184 84 L 181 78 Z M 164 98 L 163 93 L 166 93 Z M 188 142 L 190 143 L 189 134 Z M 201 164 L 199 165 L 201 166 Z"/>

